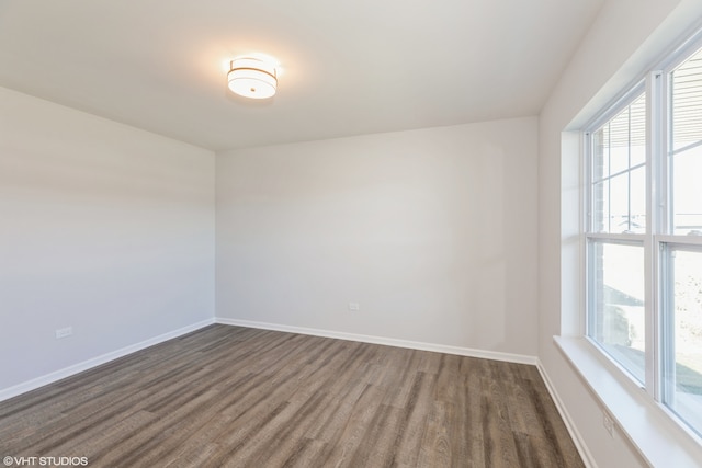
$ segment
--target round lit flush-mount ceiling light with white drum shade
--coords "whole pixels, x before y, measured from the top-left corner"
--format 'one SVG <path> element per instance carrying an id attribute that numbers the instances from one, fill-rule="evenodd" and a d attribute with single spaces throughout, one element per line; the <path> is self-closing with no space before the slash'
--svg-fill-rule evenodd
<path id="1" fill-rule="evenodd" d="M 278 88 L 275 67 L 258 58 L 235 58 L 227 78 L 229 89 L 245 98 L 272 98 Z"/>

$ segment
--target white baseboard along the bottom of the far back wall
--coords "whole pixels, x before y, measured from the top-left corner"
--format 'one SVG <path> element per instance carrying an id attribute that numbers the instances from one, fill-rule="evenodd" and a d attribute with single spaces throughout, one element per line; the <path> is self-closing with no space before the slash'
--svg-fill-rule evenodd
<path id="1" fill-rule="evenodd" d="M 330 330 L 312 329 L 304 327 L 282 326 L 250 320 L 215 318 L 216 323 L 256 328 L 262 330 L 283 331 L 288 333 L 309 334 L 313 336 L 336 338 L 339 340 L 359 341 L 362 343 L 383 344 L 386 346 L 407 347 L 410 350 L 433 351 L 435 353 L 456 354 L 458 356 L 480 357 L 484 359 L 503 361 L 516 364 L 536 365 L 536 357 L 524 354 L 501 353 L 497 351 L 473 350 L 469 347 L 450 346 L 445 344 L 423 343 L 419 341 L 397 340 L 394 338 L 373 336 L 367 334 L 344 333 Z"/>

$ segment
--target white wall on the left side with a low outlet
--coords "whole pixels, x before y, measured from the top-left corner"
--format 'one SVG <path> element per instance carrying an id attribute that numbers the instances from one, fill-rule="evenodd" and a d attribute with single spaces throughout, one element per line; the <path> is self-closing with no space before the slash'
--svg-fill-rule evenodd
<path id="1" fill-rule="evenodd" d="M 0 390 L 213 316 L 214 153 L 0 89 Z"/>

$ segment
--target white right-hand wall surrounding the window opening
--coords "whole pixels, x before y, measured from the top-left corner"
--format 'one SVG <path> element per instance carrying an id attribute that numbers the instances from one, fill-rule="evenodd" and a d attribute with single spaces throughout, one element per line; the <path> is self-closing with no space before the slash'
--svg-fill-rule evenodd
<path id="1" fill-rule="evenodd" d="M 553 335 L 578 331 L 578 145 L 562 132 L 577 128 L 647 69 L 701 18 L 702 3 L 679 0 L 607 1 L 554 89 L 539 121 L 539 357 L 600 467 L 644 466 L 616 430 L 602 426 L 597 399 L 556 349 Z"/>

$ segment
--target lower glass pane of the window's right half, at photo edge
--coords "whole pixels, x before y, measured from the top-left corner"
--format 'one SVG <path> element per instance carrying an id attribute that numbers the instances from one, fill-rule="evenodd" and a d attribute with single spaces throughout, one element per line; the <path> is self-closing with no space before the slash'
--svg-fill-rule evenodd
<path id="1" fill-rule="evenodd" d="M 664 402 L 702 434 L 702 251 L 666 252 Z"/>

